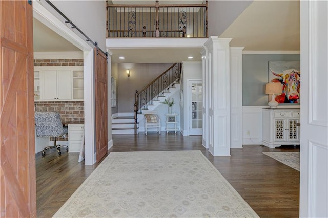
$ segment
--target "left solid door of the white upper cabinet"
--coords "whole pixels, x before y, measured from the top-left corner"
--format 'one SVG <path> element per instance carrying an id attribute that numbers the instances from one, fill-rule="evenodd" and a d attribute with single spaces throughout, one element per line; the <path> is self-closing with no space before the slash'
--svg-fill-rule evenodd
<path id="1" fill-rule="evenodd" d="M 57 99 L 57 72 L 56 71 L 41 71 L 42 79 L 42 99 L 55 100 Z"/>

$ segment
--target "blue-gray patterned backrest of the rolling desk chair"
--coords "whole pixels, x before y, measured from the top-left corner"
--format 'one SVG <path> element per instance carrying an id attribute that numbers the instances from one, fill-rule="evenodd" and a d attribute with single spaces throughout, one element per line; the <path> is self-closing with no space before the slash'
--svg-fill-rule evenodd
<path id="1" fill-rule="evenodd" d="M 38 137 L 64 135 L 60 114 L 58 112 L 35 112 L 35 130 Z"/>

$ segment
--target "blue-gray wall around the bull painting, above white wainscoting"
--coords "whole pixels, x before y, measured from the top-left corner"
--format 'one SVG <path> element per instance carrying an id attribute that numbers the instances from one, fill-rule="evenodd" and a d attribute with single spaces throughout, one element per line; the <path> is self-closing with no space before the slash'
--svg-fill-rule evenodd
<path id="1" fill-rule="evenodd" d="M 242 55 L 242 105 L 267 106 L 264 94 L 269 81 L 269 61 L 299 61 L 299 54 L 243 54 Z"/>

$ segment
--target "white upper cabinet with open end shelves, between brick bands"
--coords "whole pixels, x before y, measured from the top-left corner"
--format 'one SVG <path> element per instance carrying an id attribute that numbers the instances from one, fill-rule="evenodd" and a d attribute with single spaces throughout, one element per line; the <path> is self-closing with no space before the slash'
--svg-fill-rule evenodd
<path id="1" fill-rule="evenodd" d="M 83 100 L 83 67 L 34 67 L 39 72 L 39 99 L 35 101 Z M 79 72 L 79 95 L 76 95 L 74 75 Z M 82 76 L 81 76 L 82 75 Z M 34 83 L 36 78 L 34 78 Z"/>

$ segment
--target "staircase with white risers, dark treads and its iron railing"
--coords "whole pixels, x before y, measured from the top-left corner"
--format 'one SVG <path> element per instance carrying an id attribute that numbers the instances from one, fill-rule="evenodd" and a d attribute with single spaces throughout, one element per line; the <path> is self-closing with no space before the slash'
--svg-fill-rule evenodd
<path id="1" fill-rule="evenodd" d="M 159 75 L 146 88 L 135 93 L 134 112 L 122 113 L 112 119 L 112 134 L 138 134 L 139 122 L 144 118 L 145 110 L 155 110 L 164 99 L 170 97 L 176 89 L 180 89 L 182 63 L 173 64 Z"/>

